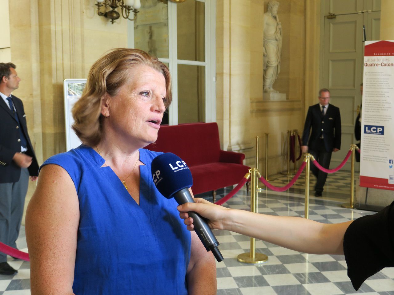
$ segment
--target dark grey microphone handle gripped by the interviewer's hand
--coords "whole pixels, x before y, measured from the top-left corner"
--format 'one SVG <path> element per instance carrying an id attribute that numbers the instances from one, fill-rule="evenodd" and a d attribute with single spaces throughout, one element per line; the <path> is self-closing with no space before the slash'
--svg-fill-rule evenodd
<path id="1" fill-rule="evenodd" d="M 184 188 L 175 193 L 174 198 L 179 205 L 188 202 L 195 203 L 188 188 Z M 214 254 L 217 262 L 221 262 L 223 260 L 223 256 L 219 249 L 217 249 L 219 242 L 217 242 L 216 237 L 206 222 L 206 219 L 193 211 L 189 211 L 188 214 L 191 218 L 193 218 L 194 231 L 197 233 L 197 236 L 200 238 L 201 243 L 203 243 L 206 251 L 212 251 L 212 254 Z"/>

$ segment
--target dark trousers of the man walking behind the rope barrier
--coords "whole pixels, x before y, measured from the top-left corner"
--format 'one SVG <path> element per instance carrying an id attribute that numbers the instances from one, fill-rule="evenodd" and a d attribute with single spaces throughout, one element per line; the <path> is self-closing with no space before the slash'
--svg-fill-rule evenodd
<path id="1" fill-rule="evenodd" d="M 327 151 L 324 146 L 323 138 L 319 139 L 318 150 L 309 150 L 309 153 L 318 161 L 318 163 L 324 168 L 330 167 L 332 151 Z M 320 171 L 313 163 L 310 164 L 310 171 L 316 176 L 317 181 L 315 185 L 315 191 L 318 193 L 323 192 L 323 186 L 327 179 L 327 173 Z"/>

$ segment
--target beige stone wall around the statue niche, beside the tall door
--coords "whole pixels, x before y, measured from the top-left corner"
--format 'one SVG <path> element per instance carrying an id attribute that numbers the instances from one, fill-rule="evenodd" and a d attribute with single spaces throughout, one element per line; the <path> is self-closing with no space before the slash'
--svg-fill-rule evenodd
<path id="1" fill-rule="evenodd" d="M 268 1 L 266 1 L 268 3 Z M 301 133 L 305 96 L 305 1 L 280 0 L 283 28 L 281 72 L 274 87 L 286 101 L 263 101 L 263 14 L 260 0 L 217 0 L 217 122 L 224 149 L 241 151 L 255 164 L 260 136 L 260 168 L 269 133 L 269 174 L 286 169 L 288 129 Z M 260 169 L 260 171 L 262 171 Z"/>

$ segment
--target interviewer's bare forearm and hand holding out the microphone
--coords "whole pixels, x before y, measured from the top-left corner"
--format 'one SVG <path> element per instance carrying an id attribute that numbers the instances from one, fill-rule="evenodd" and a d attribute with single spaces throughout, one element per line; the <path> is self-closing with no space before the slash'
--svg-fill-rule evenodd
<path id="1" fill-rule="evenodd" d="M 292 216 L 271 216 L 223 208 L 204 199 L 178 206 L 180 217 L 193 229 L 187 211 L 210 219 L 213 229 L 226 229 L 288 249 L 312 254 L 343 254 L 343 237 L 351 221 L 326 224 Z"/>

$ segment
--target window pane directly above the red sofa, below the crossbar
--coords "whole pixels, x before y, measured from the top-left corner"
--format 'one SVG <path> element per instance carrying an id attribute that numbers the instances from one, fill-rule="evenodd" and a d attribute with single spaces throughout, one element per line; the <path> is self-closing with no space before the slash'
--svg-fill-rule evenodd
<path id="1" fill-rule="evenodd" d="M 178 124 L 205 122 L 205 66 L 178 65 Z"/>

